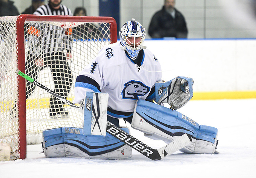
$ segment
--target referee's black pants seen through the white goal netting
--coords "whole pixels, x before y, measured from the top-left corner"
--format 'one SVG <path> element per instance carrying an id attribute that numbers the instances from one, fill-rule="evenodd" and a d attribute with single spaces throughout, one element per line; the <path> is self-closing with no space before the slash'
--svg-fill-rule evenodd
<path id="1" fill-rule="evenodd" d="M 37 58 L 32 55 L 28 56 L 26 62 L 26 74 L 37 80 L 38 73 L 44 67 L 50 67 L 51 74 L 54 80 L 54 92 L 66 98 L 72 86 L 72 73 L 68 66 L 66 55 L 62 52 L 58 53 L 47 53 L 43 55 L 43 66 L 36 63 Z M 26 99 L 32 94 L 35 89 L 35 85 L 29 81 L 26 81 Z M 56 97 L 51 96 L 50 98 L 50 116 L 55 116 L 64 110 L 63 102 L 58 100 Z"/>

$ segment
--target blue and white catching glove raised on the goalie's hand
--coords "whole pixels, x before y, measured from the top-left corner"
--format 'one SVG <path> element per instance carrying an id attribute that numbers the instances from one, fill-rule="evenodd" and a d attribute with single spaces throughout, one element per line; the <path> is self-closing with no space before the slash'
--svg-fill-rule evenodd
<path id="1" fill-rule="evenodd" d="M 181 76 L 156 82 L 156 102 L 169 103 L 174 110 L 181 108 L 193 97 L 193 83 L 192 78 Z"/>

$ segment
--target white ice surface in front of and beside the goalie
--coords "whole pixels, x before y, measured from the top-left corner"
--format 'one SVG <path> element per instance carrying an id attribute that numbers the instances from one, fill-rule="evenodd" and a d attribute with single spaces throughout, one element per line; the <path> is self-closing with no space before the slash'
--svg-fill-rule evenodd
<path id="1" fill-rule="evenodd" d="M 0 162 L 0 178 L 253 178 L 256 177 L 256 99 L 189 101 L 179 112 L 202 125 L 219 130 L 219 154 L 184 154 L 179 151 L 152 161 L 133 150 L 126 160 L 46 158 L 41 145 L 28 145 L 25 160 Z M 152 148 L 139 131 L 131 134 Z"/>

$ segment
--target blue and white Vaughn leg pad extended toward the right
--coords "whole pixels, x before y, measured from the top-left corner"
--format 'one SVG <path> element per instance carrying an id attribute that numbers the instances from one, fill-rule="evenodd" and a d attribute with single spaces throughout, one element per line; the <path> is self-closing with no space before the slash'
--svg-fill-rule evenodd
<path id="1" fill-rule="evenodd" d="M 212 154 L 218 143 L 217 128 L 199 125 L 175 110 L 144 100 L 137 101 L 131 126 L 166 143 L 187 134 L 191 142 L 180 151 L 190 154 Z"/>

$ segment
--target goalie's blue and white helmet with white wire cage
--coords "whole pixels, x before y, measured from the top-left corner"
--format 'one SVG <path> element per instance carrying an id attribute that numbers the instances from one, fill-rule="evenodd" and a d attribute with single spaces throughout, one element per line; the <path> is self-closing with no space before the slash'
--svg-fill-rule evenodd
<path id="1" fill-rule="evenodd" d="M 146 30 L 134 18 L 126 22 L 119 32 L 120 41 L 131 59 L 136 59 L 143 46 Z"/>

